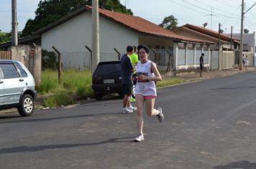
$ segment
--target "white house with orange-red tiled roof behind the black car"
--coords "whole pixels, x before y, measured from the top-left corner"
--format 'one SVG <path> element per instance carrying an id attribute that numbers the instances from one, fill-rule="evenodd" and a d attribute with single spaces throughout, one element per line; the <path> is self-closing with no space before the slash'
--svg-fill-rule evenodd
<path id="1" fill-rule="evenodd" d="M 85 46 L 92 48 L 91 33 L 91 6 L 83 6 L 54 24 L 35 32 L 41 34 L 42 49 L 53 51 L 52 46 L 54 46 L 61 52 L 64 68 L 81 69 L 90 63 L 90 53 Z M 154 49 L 173 48 L 173 55 L 177 55 L 175 49 L 177 48 L 178 51 L 180 43 L 193 44 L 201 49 L 212 44 L 212 42 L 180 36 L 138 16 L 106 9 L 99 9 L 99 36 L 101 61 L 119 59 L 117 52 L 124 54 L 127 45 L 145 44 Z M 177 67 L 177 64 L 174 67 Z"/>

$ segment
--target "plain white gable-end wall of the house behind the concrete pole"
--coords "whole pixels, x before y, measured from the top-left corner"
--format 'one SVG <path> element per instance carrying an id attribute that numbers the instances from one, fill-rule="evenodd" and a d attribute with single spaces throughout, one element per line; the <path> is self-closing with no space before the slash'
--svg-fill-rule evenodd
<path id="1" fill-rule="evenodd" d="M 83 68 L 88 62 L 84 57 L 90 55 L 85 46 L 92 49 L 91 29 L 91 11 L 85 11 L 42 34 L 42 49 L 53 51 L 55 46 L 62 53 L 64 68 Z M 127 45 L 138 44 L 137 33 L 103 16 L 99 16 L 99 30 L 101 60 L 118 59 L 114 48 L 125 53 Z"/>

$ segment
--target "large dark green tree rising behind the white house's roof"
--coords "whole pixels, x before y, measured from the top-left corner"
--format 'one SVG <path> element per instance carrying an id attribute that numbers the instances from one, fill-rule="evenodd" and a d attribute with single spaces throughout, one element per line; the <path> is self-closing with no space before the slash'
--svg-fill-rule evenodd
<path id="1" fill-rule="evenodd" d="M 22 31 L 22 37 L 33 34 L 37 29 L 47 26 L 85 5 L 92 5 L 92 0 L 41 0 L 35 11 L 35 19 L 28 19 Z M 130 9 L 120 4 L 119 0 L 101 0 L 99 7 L 124 14 L 132 14 Z"/>

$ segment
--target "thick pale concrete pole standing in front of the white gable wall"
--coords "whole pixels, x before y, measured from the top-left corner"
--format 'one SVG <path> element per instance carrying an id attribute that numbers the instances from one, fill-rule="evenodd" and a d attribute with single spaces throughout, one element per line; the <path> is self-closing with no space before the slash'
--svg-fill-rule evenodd
<path id="1" fill-rule="evenodd" d="M 91 72 L 99 63 L 99 0 L 93 0 L 92 4 L 92 65 Z"/>

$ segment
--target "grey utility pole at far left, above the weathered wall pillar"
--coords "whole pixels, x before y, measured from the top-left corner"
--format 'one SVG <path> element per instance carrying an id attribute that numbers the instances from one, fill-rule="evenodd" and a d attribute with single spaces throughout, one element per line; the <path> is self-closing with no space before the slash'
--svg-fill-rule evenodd
<path id="1" fill-rule="evenodd" d="M 18 46 L 17 0 L 12 0 L 12 46 Z"/>

